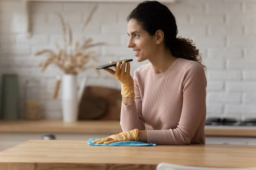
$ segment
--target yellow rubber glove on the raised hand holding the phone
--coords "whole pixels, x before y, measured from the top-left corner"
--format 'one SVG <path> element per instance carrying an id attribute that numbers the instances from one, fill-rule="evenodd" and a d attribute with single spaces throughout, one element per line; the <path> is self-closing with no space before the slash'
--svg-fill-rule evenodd
<path id="1" fill-rule="evenodd" d="M 110 63 L 113 63 L 111 61 Z M 105 68 L 105 71 L 108 71 L 112 74 L 119 82 L 121 83 L 121 94 L 124 97 L 135 97 L 134 93 L 134 80 L 130 75 L 130 62 L 127 62 L 127 68 L 125 72 L 125 60 L 122 61 L 122 68 L 121 63 L 117 62 L 116 66 L 114 66 L 115 71 L 111 70 L 110 68 Z"/>

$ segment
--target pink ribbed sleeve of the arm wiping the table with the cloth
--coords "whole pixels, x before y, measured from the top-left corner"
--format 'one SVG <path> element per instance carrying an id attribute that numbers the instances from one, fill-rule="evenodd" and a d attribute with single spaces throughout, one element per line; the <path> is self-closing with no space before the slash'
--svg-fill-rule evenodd
<path id="1" fill-rule="evenodd" d="M 183 103 L 180 121 L 175 129 L 147 130 L 148 143 L 190 144 L 204 115 L 207 80 L 200 63 L 190 63 L 182 78 Z"/>

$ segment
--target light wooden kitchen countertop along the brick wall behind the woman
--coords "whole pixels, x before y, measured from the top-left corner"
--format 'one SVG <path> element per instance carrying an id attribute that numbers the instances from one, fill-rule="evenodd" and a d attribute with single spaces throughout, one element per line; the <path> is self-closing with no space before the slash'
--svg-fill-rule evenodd
<path id="1" fill-rule="evenodd" d="M 147 130 L 152 127 L 146 125 Z M 119 121 L 78 121 L 65 123 L 55 120 L 39 121 L 0 121 L 0 133 L 80 133 L 116 134 L 122 132 Z M 256 137 L 256 126 L 205 126 L 206 136 Z"/>

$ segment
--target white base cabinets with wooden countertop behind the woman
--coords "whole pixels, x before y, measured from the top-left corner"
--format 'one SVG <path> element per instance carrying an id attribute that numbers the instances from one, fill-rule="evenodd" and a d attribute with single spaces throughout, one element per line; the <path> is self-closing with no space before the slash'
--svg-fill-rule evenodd
<path id="1" fill-rule="evenodd" d="M 147 130 L 152 127 L 146 125 Z M 0 121 L 0 151 L 53 134 L 57 140 L 89 140 L 122 131 L 119 121 Z M 206 126 L 207 144 L 256 145 L 256 127 Z"/>

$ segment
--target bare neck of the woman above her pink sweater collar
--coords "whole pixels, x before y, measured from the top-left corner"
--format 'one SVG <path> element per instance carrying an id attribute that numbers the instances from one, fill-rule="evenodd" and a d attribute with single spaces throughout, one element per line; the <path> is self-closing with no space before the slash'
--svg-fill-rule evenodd
<path id="1" fill-rule="evenodd" d="M 149 61 L 151 62 L 154 72 L 160 74 L 165 72 L 175 59 L 177 59 L 177 57 L 174 57 L 169 51 L 158 51 L 157 55 L 154 55 Z"/>

